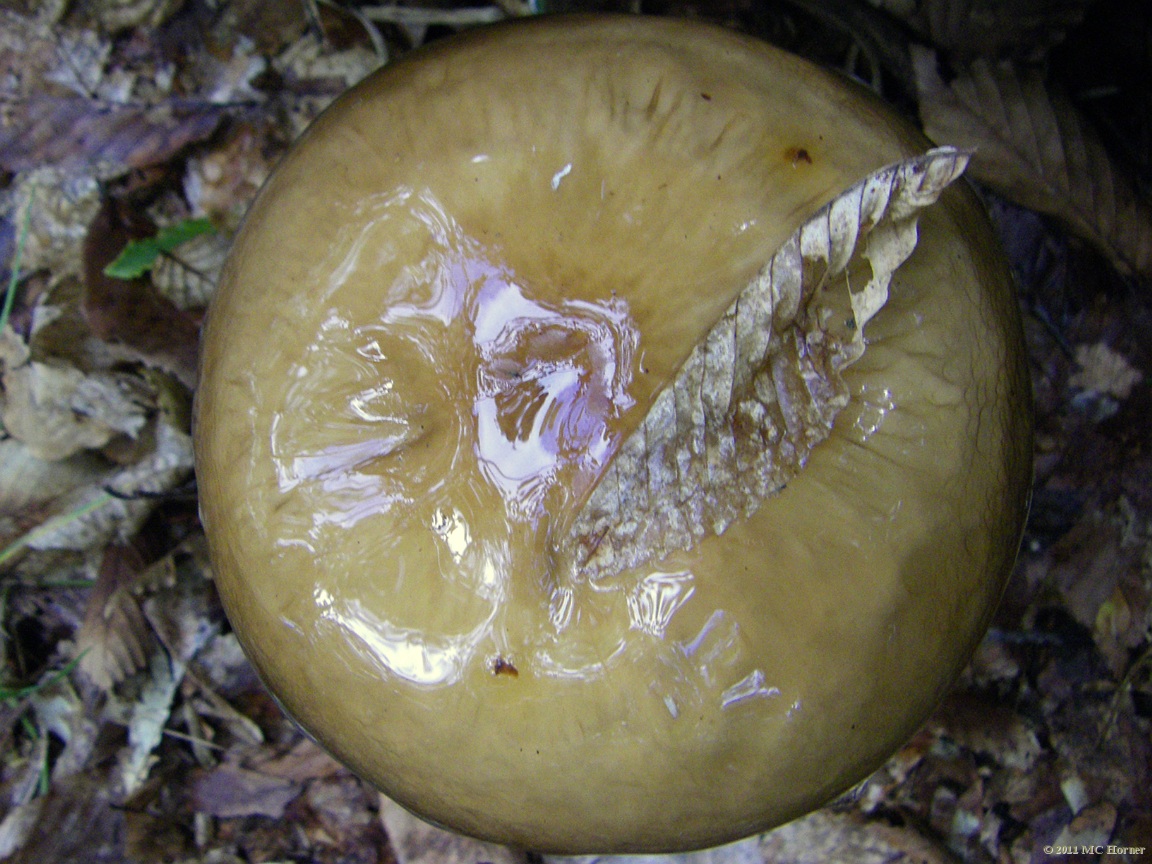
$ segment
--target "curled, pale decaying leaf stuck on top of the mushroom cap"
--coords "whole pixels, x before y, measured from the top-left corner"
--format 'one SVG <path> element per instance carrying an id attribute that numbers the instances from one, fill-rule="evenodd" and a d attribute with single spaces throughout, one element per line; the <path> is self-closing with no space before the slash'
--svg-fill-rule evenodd
<path id="1" fill-rule="evenodd" d="M 772 256 L 577 514 L 564 553 L 584 575 L 608 577 L 723 533 L 803 468 L 848 403 L 841 371 L 863 354 L 863 328 L 916 248 L 917 212 L 967 164 L 941 147 L 884 168 Z"/>

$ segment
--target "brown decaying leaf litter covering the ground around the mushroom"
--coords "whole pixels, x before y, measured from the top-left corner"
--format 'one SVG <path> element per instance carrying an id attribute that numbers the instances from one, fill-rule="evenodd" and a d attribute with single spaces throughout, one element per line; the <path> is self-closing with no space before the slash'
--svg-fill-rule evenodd
<path id="1" fill-rule="evenodd" d="M 195 502 L 183 495 L 187 374 L 170 351 L 136 342 L 138 321 L 108 316 L 84 285 L 83 247 L 109 199 L 147 215 L 135 238 L 211 218 L 220 234 L 161 256 L 121 295 L 129 310 L 165 297 L 166 316 L 195 321 L 247 203 L 332 97 L 467 18 L 532 10 L 377 6 L 14 0 L 0 10 L 0 270 L 13 285 L 0 334 L 0 685 L 13 696 L 0 700 L 0 857 L 536 859 L 391 817 L 279 712 L 220 617 Z M 1106 77 L 1129 68 L 1114 55 L 1146 45 L 1147 9 L 1138 0 L 804 0 L 755 14 L 741 3 L 657 6 L 848 74 L 865 56 L 865 83 L 917 101 L 941 143 L 975 146 L 968 174 L 985 185 L 1020 279 L 1037 394 L 1037 483 L 1020 563 L 945 705 L 829 808 L 694 862 L 1015 863 L 1054 859 L 1044 848 L 1055 843 L 1152 846 L 1152 105 L 1134 79 Z M 924 45 L 917 77 L 909 32 Z M 1091 74 L 1069 59 L 1079 55 L 1098 59 Z M 965 107 L 971 82 L 995 99 Z M 1086 103 L 1082 82 L 1101 94 Z M 1093 122 L 1099 106 L 1111 106 L 1113 128 Z M 1037 122 L 1013 122 L 1025 115 Z M 73 132 L 58 134 L 63 120 Z M 858 267 L 854 287 L 866 281 Z M 113 324 L 97 332 L 101 314 Z M 833 335 L 851 342 L 847 331 Z M 9 387 L 13 374 L 29 380 Z M 29 400 L 13 402 L 22 386 L 47 387 L 71 417 L 29 422 Z M 22 422 L 26 440 L 12 432 Z M 715 514 L 713 528 L 727 517 Z M 635 554 L 628 538 L 617 543 Z"/>

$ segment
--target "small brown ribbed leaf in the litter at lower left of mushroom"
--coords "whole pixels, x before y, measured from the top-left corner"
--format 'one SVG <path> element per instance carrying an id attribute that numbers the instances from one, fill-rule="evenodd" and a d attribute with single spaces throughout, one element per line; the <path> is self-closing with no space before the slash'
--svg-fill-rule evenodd
<path id="1" fill-rule="evenodd" d="M 144 668 L 153 646 L 131 589 L 144 567 L 131 546 L 108 546 L 76 635 L 79 669 L 107 690 Z"/>

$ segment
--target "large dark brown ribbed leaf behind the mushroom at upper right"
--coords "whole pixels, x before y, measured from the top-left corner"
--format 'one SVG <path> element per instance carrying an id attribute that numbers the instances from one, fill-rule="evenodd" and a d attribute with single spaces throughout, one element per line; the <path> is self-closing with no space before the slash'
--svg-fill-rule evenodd
<path id="1" fill-rule="evenodd" d="M 925 131 L 972 149 L 973 177 L 1152 278 L 1152 207 L 1038 70 L 977 60 L 945 83 L 932 51 L 914 45 L 912 59 Z"/>

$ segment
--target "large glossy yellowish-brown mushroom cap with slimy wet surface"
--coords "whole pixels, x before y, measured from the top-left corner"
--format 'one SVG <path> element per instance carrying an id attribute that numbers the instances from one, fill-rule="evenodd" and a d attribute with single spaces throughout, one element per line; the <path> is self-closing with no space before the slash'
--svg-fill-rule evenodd
<path id="1" fill-rule="evenodd" d="M 236 237 L 197 394 L 217 583 L 288 713 L 416 813 L 541 851 L 723 843 L 881 764 L 1026 510 L 1021 324 L 969 190 L 923 211 L 785 488 L 624 569 L 566 550 L 765 262 L 929 146 L 672 20 L 476 31 L 340 98 Z"/>

